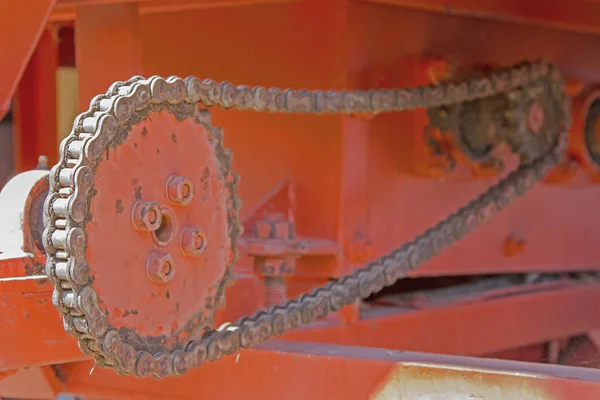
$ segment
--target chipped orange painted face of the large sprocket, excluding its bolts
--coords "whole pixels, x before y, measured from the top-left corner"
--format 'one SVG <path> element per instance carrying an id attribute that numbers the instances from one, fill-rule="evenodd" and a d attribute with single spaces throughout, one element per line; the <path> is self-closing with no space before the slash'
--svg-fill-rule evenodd
<path id="1" fill-rule="evenodd" d="M 175 337 L 192 318 L 210 318 L 209 312 L 201 311 L 215 305 L 231 249 L 228 177 L 219 170 L 212 135 L 194 118 L 178 122 L 167 111 L 153 112 L 96 166 L 86 260 L 109 323 L 116 328 L 135 327 L 142 336 Z M 166 186 L 173 176 L 189 180 L 190 204 L 168 200 Z M 156 234 L 134 228 L 132 210 L 138 201 L 156 203 L 163 212 Z M 182 252 L 185 228 L 210 235 L 198 257 Z M 117 240 L 107 240 L 114 235 Z M 169 282 L 149 279 L 146 263 L 154 252 L 172 257 Z M 122 267 L 115 268 L 115 263 Z M 197 320 L 194 325 L 204 323 Z"/>

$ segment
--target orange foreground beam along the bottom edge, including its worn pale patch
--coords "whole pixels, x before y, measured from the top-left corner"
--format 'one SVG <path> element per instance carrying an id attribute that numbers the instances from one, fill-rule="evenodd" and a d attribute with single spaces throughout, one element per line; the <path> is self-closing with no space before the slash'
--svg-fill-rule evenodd
<path id="1" fill-rule="evenodd" d="M 64 366 L 65 391 L 104 399 L 136 393 L 143 398 L 251 394 L 286 400 L 562 400 L 592 399 L 600 393 L 600 371 L 595 369 L 282 341 L 206 364 L 178 379 L 140 380 L 99 368 L 89 371 L 82 364 Z"/>

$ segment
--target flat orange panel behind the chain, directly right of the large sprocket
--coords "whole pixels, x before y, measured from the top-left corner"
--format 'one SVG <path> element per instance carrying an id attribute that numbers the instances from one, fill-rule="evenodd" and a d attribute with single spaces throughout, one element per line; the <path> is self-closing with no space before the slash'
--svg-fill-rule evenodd
<path id="1" fill-rule="evenodd" d="M 334 3 L 143 15 L 144 74 L 341 88 L 344 60 L 335 40 L 340 21 L 331 19 Z M 242 174 L 238 186 L 242 212 L 290 176 L 298 185 L 296 201 L 301 205 L 296 215 L 298 235 L 335 239 L 341 201 L 340 117 L 211 111 L 214 124 L 224 129 L 225 145 L 233 149 L 234 169 Z"/>

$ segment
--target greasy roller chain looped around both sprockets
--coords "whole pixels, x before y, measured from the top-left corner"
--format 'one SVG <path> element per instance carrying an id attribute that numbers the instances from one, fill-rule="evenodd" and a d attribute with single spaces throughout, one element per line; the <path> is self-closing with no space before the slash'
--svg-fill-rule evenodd
<path id="1" fill-rule="evenodd" d="M 142 112 L 160 105 L 221 106 L 241 110 L 290 113 L 380 113 L 419 107 L 431 108 L 510 94 L 528 85 L 547 82 L 558 104 L 560 126 L 551 127 L 553 145 L 520 167 L 468 205 L 414 240 L 348 276 L 331 281 L 285 304 L 260 310 L 235 324 L 207 332 L 184 349 L 159 354 L 136 351 L 109 329 L 98 305 L 85 257 L 85 226 L 89 222 L 89 188 L 93 168 L 113 144 L 120 127 L 140 120 Z M 559 161 L 570 124 L 569 99 L 557 69 L 544 61 L 524 63 L 485 78 L 444 82 L 414 89 L 307 91 L 250 88 L 177 77 L 134 77 L 115 83 L 95 97 L 90 109 L 75 120 L 71 134 L 61 144 L 61 161 L 50 174 L 50 194 L 45 204 L 44 244 L 46 273 L 54 284 L 53 303 L 63 315 L 65 329 L 78 338 L 82 351 L 98 365 L 120 374 L 163 378 L 181 375 L 206 361 L 265 342 L 269 338 L 308 324 L 347 304 L 392 285 L 420 264 L 462 239 L 489 220 L 535 183 Z M 147 115 L 147 114 L 146 114 Z M 514 135 L 523 135 L 523 124 L 514 124 Z M 83 162 L 85 160 L 86 162 Z"/>

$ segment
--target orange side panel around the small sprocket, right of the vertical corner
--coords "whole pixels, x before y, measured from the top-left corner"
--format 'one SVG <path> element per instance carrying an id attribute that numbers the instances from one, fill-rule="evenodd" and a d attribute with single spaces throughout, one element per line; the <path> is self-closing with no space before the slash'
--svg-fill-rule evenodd
<path id="1" fill-rule="evenodd" d="M 390 86 L 410 85 L 411 77 L 402 74 L 402 68 L 406 60 L 423 54 L 452 56 L 467 65 L 546 58 L 557 62 L 567 76 L 600 80 L 599 36 L 401 7 L 362 7 L 371 21 L 369 73 L 386 76 Z M 422 135 L 419 128 L 411 113 L 381 115 L 371 123 L 369 234 L 376 256 L 436 224 L 495 181 L 410 176 L 413 149 Z M 514 166 L 514 158 L 508 166 Z M 600 260 L 600 247 L 594 244 L 600 214 L 590 210 L 598 199 L 597 186 L 540 185 L 414 275 L 595 269 Z M 504 243 L 511 235 L 527 246 L 515 257 L 506 257 Z"/>

